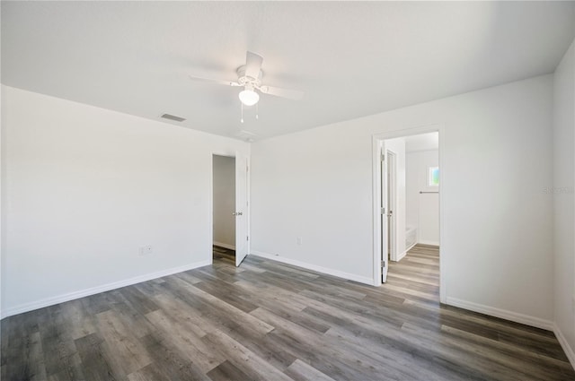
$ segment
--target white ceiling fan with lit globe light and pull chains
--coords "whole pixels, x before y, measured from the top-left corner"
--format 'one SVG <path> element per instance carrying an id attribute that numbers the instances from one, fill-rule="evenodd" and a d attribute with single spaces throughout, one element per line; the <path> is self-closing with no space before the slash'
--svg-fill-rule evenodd
<path id="1" fill-rule="evenodd" d="M 190 79 L 194 81 L 208 81 L 215 82 L 219 84 L 224 84 L 227 86 L 241 86 L 243 91 L 240 91 L 238 97 L 242 102 L 242 113 L 243 106 L 253 106 L 260 100 L 260 91 L 262 94 L 274 95 L 280 98 L 287 98 L 288 100 L 301 100 L 304 96 L 303 91 L 281 89 L 279 87 L 267 86 L 261 84 L 261 78 L 263 73 L 261 72 L 261 63 L 263 62 L 263 57 L 248 51 L 245 56 L 245 65 L 241 65 L 237 68 L 237 81 L 226 81 L 226 80 L 216 80 L 211 78 L 198 77 L 196 75 L 190 75 Z M 256 114 L 256 118 L 257 118 Z M 242 117 L 243 123 L 243 117 Z"/>

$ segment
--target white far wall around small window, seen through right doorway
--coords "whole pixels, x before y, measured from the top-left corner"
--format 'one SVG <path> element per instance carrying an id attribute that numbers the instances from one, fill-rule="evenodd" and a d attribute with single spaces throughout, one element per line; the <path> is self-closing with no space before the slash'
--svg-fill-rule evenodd
<path id="1" fill-rule="evenodd" d="M 438 150 L 406 154 L 407 225 L 417 227 L 418 242 L 428 245 L 439 245 L 439 195 L 420 192 L 439 191 L 428 185 L 429 167 L 438 165 Z"/>

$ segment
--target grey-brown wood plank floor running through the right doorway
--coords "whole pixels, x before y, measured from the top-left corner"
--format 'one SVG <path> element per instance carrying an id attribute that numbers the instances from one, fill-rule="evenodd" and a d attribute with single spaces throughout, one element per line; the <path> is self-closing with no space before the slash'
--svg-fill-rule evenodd
<path id="1" fill-rule="evenodd" d="M 553 333 L 439 306 L 429 247 L 379 288 L 223 258 L 5 318 L 1 351 L 2 380 L 575 379 Z"/>

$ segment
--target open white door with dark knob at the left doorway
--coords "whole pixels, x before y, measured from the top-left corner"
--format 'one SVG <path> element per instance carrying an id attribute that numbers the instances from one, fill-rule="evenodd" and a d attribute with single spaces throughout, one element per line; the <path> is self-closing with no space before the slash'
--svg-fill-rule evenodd
<path id="1" fill-rule="evenodd" d="M 248 158 L 235 152 L 235 265 L 248 255 Z"/>

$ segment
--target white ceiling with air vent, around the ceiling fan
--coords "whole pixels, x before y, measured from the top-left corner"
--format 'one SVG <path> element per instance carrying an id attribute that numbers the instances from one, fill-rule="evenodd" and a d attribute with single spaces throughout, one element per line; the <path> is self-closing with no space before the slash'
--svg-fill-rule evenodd
<path id="1" fill-rule="evenodd" d="M 2 82 L 187 126 L 259 138 L 552 73 L 573 2 L 2 2 Z M 260 119 L 235 80 L 264 57 Z"/>

